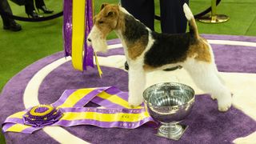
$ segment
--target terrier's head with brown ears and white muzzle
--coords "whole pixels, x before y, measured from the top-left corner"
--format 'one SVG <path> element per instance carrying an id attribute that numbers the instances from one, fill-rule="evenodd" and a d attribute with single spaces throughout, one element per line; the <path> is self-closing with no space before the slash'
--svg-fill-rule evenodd
<path id="1" fill-rule="evenodd" d="M 94 26 L 87 38 L 87 43 L 92 45 L 94 51 L 106 52 L 106 36 L 117 28 L 119 6 L 102 4 L 101 11 L 94 17 Z"/>

